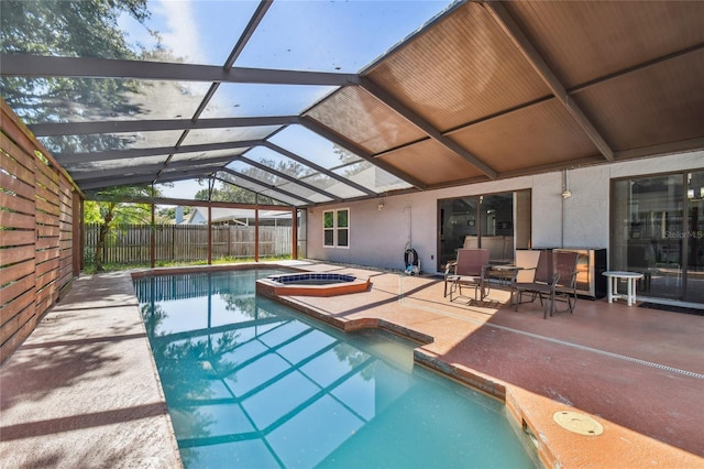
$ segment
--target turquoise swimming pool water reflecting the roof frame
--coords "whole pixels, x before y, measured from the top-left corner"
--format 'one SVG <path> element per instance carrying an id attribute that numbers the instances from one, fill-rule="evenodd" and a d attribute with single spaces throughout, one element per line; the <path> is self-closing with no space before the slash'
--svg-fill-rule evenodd
<path id="1" fill-rule="evenodd" d="M 505 407 L 267 298 L 273 270 L 135 280 L 187 468 L 532 468 Z M 343 301 L 343 299 L 341 299 Z"/>

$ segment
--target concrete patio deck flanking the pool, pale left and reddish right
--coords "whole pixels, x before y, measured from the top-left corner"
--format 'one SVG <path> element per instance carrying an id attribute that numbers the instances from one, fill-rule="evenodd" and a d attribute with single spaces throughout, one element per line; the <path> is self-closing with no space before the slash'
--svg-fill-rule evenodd
<path id="1" fill-rule="evenodd" d="M 369 276 L 372 288 L 338 297 L 293 296 L 298 309 L 343 328 L 386 325 L 430 336 L 422 362 L 504 393 L 536 436 L 548 467 L 704 468 L 704 317 L 580 301 L 542 319 L 539 304 L 450 303 L 437 277 L 298 262 L 311 271 Z M 3 467 L 178 467 L 131 277 L 78 279 L 0 367 Z M 558 425 L 593 417 L 602 435 Z"/>

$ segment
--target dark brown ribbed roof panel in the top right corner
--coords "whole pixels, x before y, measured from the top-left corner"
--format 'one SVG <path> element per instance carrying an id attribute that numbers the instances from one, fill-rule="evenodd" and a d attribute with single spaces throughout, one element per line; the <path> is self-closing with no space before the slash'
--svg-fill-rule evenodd
<path id="1" fill-rule="evenodd" d="M 566 88 L 704 43 L 702 1 L 506 2 Z"/>

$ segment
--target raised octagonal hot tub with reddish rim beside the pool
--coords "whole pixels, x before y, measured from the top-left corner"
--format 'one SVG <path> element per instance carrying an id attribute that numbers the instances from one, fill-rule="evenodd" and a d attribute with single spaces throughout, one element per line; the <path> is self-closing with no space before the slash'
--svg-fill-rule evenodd
<path id="1" fill-rule="evenodd" d="M 279 274 L 256 281 L 256 293 L 265 296 L 337 296 L 366 292 L 369 287 L 369 279 L 327 272 Z"/>

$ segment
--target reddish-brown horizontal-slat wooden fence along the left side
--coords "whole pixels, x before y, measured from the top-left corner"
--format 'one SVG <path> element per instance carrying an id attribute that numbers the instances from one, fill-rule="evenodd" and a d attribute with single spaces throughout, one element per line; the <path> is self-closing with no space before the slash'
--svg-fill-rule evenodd
<path id="1" fill-rule="evenodd" d="M 58 164 L 0 100 L 0 362 L 70 284 L 78 196 Z"/>

